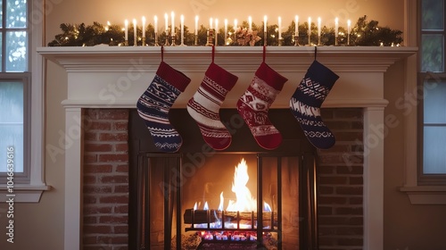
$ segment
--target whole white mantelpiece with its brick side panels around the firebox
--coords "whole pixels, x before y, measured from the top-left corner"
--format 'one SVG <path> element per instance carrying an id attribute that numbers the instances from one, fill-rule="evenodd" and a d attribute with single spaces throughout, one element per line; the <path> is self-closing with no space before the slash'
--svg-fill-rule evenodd
<path id="1" fill-rule="evenodd" d="M 174 108 L 184 108 L 194 95 L 210 51 L 166 48 L 165 61 L 192 79 Z M 337 143 L 318 152 L 320 249 L 383 247 L 384 142 L 376 139 L 376 128 L 384 124 L 387 104 L 384 72 L 415 51 L 318 48 L 318 61 L 340 76 L 322 113 Z M 38 53 L 68 72 L 66 130 L 82 124 L 84 131 L 65 154 L 64 249 L 128 249 L 128 113 L 153 79 L 160 48 L 43 47 Z M 313 56 L 311 47 L 268 47 L 267 63 L 289 79 L 272 108 L 288 108 Z M 260 62 L 260 47 L 216 49 L 216 63 L 239 76 L 224 107 L 235 107 Z"/>

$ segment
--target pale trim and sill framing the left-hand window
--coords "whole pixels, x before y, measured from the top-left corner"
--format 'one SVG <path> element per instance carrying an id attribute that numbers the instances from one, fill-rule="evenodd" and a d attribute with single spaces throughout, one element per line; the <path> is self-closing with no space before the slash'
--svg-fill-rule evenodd
<path id="1" fill-rule="evenodd" d="M 31 129 L 30 129 L 30 159 L 29 183 L 13 185 L 14 203 L 38 203 L 45 190 L 51 186 L 45 184 L 45 92 L 44 71 L 45 62 L 37 47 L 43 44 L 43 26 L 45 23 L 45 8 L 43 0 L 31 1 L 29 5 L 29 62 L 31 70 Z M 7 200 L 8 189 L 0 185 L 0 202 Z M 9 198 L 9 197 L 8 197 Z"/>

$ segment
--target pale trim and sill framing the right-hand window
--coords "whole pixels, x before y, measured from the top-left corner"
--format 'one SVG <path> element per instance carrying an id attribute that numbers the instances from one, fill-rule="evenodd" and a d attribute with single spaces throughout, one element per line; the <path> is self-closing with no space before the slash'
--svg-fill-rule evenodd
<path id="1" fill-rule="evenodd" d="M 406 46 L 417 46 L 417 36 L 419 27 L 417 25 L 417 0 L 405 0 L 405 35 Z M 404 86 L 404 96 L 413 96 L 414 89 L 417 89 L 417 55 L 412 55 L 406 63 L 406 81 Z M 411 96 L 412 95 L 412 96 Z M 409 115 L 404 117 L 404 166 L 405 183 L 400 187 L 401 192 L 409 196 L 411 204 L 446 204 L 446 186 L 419 186 L 417 181 L 417 108 L 414 108 Z"/>

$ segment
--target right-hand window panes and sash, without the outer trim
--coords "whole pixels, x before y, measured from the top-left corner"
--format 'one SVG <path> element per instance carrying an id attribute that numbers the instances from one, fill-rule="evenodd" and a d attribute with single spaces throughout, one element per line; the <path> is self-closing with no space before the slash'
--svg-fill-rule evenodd
<path id="1" fill-rule="evenodd" d="M 420 161 L 419 185 L 446 185 L 446 74 L 445 3 L 421 1 L 421 39 L 419 84 L 423 104 L 419 108 Z"/>

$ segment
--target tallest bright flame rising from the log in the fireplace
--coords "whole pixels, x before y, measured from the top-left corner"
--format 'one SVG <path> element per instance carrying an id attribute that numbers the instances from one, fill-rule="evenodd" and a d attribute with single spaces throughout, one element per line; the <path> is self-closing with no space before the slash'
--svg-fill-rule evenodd
<path id="1" fill-rule="evenodd" d="M 235 166 L 234 180 L 232 182 L 232 192 L 235 193 L 235 201 L 229 200 L 227 211 L 251 212 L 257 211 L 257 200 L 252 197 L 251 191 L 246 184 L 250 179 L 248 175 L 248 165 L 244 158 Z"/>

